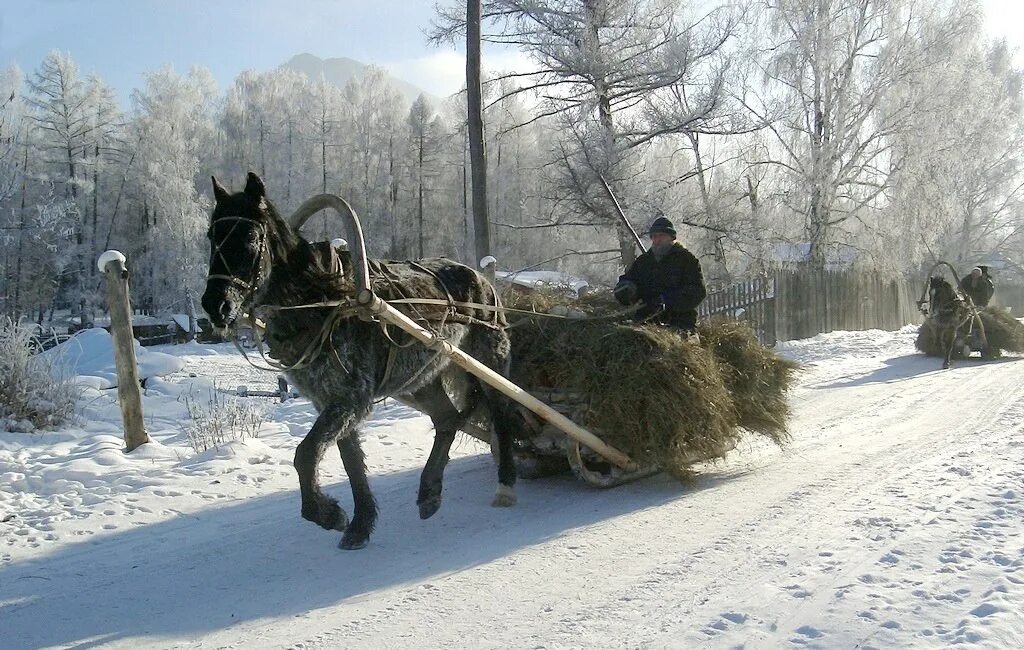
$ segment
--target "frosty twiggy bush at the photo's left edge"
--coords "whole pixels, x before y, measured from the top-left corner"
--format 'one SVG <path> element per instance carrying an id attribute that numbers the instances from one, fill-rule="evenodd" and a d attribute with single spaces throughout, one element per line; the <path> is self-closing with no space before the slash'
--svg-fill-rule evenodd
<path id="1" fill-rule="evenodd" d="M 50 429 L 75 416 L 73 378 L 54 374 L 35 349 L 30 327 L 0 320 L 0 430 Z"/>

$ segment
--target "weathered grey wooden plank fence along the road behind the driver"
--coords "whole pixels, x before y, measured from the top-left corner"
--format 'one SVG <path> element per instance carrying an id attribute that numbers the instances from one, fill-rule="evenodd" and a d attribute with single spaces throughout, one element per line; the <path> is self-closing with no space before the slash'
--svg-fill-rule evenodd
<path id="1" fill-rule="evenodd" d="M 921 322 L 924 280 L 854 271 L 779 270 L 710 294 L 701 316 L 745 320 L 765 345 L 837 330 L 898 330 Z"/>

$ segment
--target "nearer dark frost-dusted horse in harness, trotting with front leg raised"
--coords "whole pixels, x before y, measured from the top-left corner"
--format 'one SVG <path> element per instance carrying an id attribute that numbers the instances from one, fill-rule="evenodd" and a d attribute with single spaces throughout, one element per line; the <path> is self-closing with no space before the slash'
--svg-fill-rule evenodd
<path id="1" fill-rule="evenodd" d="M 411 341 L 397 341 L 398 333 L 356 317 L 344 305 L 308 307 L 354 297 L 359 283 L 353 276 L 369 278 L 373 291 L 384 299 L 443 301 L 444 306 L 433 306 L 432 313 L 426 313 L 431 307 L 414 306 L 411 315 L 507 375 L 510 344 L 503 317 L 494 310 L 466 306 L 497 305 L 490 284 L 473 269 L 445 259 L 368 263 L 358 220 L 337 198 L 332 199 L 343 206 L 339 214 L 357 242 L 351 254 L 341 256 L 330 245 L 310 244 L 298 233 L 302 221 L 318 209 L 303 213 L 313 200 L 286 222 L 253 173 L 242 192 L 229 193 L 216 178 L 213 191 L 216 206 L 208 233 L 210 271 L 203 307 L 216 327 L 231 326 L 243 312 L 260 311 L 270 356 L 285 365 L 289 380 L 319 414 L 295 451 L 302 517 L 327 529 L 344 530 L 343 549 L 366 546 L 377 521 L 377 504 L 356 429 L 375 401 L 385 396 L 422 410 L 434 425 L 434 444 L 417 497 L 421 518 L 440 508 L 442 475 L 456 431 L 477 408 L 489 410 L 497 438 L 499 485 L 494 505 L 513 505 L 512 436 L 518 421 L 507 398 L 447 357 Z M 449 302 L 463 304 L 455 309 Z M 317 466 L 332 443 L 341 451 L 352 488 L 351 522 L 338 502 L 321 490 L 317 480 Z"/>

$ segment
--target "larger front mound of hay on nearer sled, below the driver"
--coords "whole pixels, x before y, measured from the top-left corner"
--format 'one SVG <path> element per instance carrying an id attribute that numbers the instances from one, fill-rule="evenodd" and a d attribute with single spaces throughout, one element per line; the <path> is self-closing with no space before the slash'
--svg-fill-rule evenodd
<path id="1" fill-rule="evenodd" d="M 512 381 L 578 393 L 580 424 L 641 465 L 682 474 L 694 459 L 736 445 L 736 409 L 718 362 L 674 332 L 551 320 L 511 336 Z"/>

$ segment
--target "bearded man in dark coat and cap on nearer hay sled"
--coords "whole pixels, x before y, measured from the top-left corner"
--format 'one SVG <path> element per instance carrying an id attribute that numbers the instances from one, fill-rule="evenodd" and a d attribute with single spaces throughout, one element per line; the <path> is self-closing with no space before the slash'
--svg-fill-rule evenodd
<path id="1" fill-rule="evenodd" d="M 618 278 L 615 300 L 624 305 L 643 301 L 634 320 L 696 332 L 697 305 L 708 295 L 700 262 L 676 241 L 676 229 L 667 218 L 655 219 L 647 234 L 650 250 Z"/>

